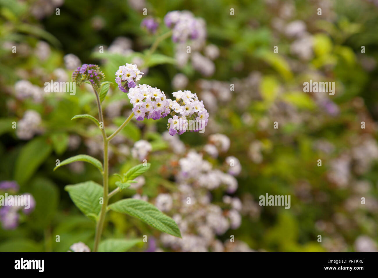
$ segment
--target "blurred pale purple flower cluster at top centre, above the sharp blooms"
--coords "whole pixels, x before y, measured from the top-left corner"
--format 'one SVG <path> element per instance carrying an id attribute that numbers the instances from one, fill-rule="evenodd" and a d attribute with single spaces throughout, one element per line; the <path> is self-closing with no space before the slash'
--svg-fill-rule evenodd
<path id="1" fill-rule="evenodd" d="M 172 28 L 174 42 L 186 42 L 206 36 L 206 26 L 200 19 L 196 19 L 189 11 L 172 11 L 164 17 L 164 23 Z"/>

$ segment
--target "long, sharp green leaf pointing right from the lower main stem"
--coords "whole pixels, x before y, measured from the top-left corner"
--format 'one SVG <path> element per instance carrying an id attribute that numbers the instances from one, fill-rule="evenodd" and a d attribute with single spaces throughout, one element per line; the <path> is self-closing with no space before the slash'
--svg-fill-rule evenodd
<path id="1" fill-rule="evenodd" d="M 109 208 L 139 218 L 159 231 L 181 238 L 176 222 L 148 202 L 129 198 L 112 203 Z"/>

